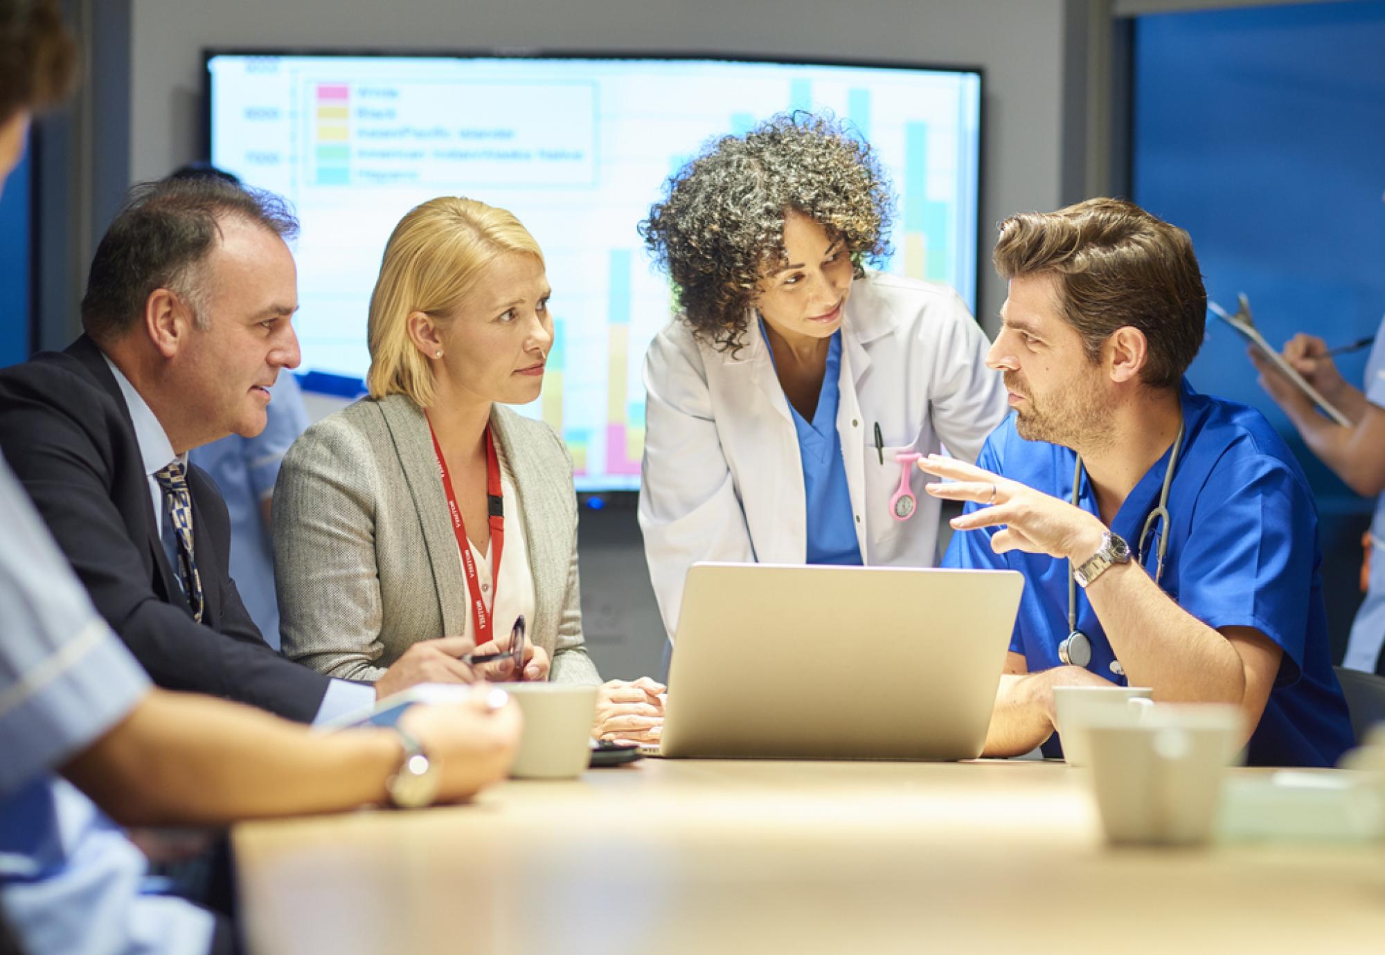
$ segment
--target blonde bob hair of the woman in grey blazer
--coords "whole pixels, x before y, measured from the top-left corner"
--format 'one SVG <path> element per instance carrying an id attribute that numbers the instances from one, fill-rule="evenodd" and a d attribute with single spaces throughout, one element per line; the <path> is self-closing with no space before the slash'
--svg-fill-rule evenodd
<path id="1" fill-rule="evenodd" d="M 409 336 L 409 316 L 447 321 L 486 267 L 511 252 L 543 264 L 539 244 L 512 213 L 476 199 L 438 197 L 399 220 L 370 296 L 366 383 L 373 399 L 407 394 L 421 408 L 432 406 L 432 368 Z"/>

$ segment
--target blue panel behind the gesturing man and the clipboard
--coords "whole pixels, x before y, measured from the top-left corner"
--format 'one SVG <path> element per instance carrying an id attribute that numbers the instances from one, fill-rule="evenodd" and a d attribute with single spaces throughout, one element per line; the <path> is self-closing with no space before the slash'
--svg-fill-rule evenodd
<path id="1" fill-rule="evenodd" d="M 1323 3 L 1136 24 L 1133 198 L 1192 235 L 1208 295 L 1281 346 L 1375 334 L 1385 313 L 1385 3 Z M 1323 515 L 1338 653 L 1368 502 L 1303 446 L 1260 390 L 1234 332 L 1208 318 L 1190 376 L 1252 404 L 1285 436 Z M 1366 353 L 1339 365 L 1360 383 Z"/>

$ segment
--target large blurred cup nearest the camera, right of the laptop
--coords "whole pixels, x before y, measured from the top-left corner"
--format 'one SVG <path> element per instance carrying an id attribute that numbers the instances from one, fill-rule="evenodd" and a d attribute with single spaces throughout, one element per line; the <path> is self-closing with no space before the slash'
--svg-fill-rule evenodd
<path id="1" fill-rule="evenodd" d="M 1240 709 L 1227 703 L 1159 703 L 1137 724 L 1094 718 L 1086 742 L 1107 839 L 1206 842 L 1242 720 Z"/>

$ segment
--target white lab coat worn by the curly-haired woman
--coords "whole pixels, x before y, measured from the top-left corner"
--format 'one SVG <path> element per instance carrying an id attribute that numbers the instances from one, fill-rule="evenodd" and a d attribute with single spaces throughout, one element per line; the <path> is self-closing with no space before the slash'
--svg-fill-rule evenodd
<path id="1" fill-rule="evenodd" d="M 670 635 L 695 561 L 803 563 L 807 556 L 798 432 L 753 321 L 745 342 L 734 356 L 717 352 L 673 321 L 644 360 L 640 529 Z M 988 347 L 947 286 L 882 273 L 852 282 L 837 432 L 867 565 L 938 561 L 939 501 L 924 494 L 929 478 L 917 468 L 909 483 L 918 509 L 906 522 L 891 516 L 900 479 L 895 454 L 929 454 L 946 443 L 954 457 L 976 460 L 1008 410 L 1000 372 L 985 365 Z"/>

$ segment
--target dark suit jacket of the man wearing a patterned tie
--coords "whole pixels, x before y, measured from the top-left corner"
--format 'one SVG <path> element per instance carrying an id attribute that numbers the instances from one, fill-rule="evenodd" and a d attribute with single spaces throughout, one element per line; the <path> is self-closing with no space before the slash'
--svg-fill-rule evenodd
<path id="1" fill-rule="evenodd" d="M 245 612 L 216 484 L 187 469 L 202 623 L 159 540 L 130 411 L 84 335 L 0 371 L 0 450 L 72 562 L 97 610 L 159 686 L 312 721 L 328 678 L 285 660 Z"/>

